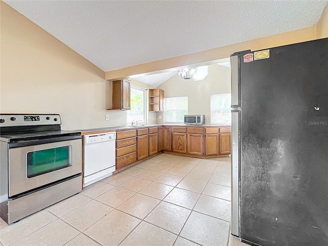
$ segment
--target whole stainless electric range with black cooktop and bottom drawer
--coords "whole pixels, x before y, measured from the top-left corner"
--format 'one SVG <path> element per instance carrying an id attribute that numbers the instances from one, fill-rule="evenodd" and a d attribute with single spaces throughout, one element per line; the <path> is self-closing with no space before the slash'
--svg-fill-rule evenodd
<path id="1" fill-rule="evenodd" d="M 59 114 L 0 115 L 0 211 L 16 222 L 82 189 L 81 133 Z"/>

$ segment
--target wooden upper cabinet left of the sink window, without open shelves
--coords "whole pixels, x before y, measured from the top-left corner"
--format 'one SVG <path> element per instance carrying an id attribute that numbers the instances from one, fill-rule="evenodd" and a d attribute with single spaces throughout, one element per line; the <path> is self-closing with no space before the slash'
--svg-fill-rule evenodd
<path id="1" fill-rule="evenodd" d="M 131 109 L 131 81 L 129 79 L 115 80 L 113 83 L 112 109 Z"/>

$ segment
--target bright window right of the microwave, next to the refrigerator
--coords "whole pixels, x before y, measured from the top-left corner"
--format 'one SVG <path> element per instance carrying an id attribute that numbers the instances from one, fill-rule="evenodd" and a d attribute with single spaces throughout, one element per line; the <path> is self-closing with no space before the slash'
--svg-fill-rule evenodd
<path id="1" fill-rule="evenodd" d="M 211 95 L 211 124 L 231 124 L 231 94 Z"/>

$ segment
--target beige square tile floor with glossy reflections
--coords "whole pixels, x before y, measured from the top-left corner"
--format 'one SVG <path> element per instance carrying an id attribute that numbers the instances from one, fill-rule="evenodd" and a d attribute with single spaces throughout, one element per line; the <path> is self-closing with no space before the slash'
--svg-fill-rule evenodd
<path id="1" fill-rule="evenodd" d="M 230 230 L 230 158 L 160 154 L 8 226 L 2 245 L 240 246 Z"/>

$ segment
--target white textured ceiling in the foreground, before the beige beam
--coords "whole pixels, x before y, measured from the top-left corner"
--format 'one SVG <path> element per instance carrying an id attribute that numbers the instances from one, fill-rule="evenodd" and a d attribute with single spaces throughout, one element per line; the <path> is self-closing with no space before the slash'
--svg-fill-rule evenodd
<path id="1" fill-rule="evenodd" d="M 326 1 L 9 1 L 104 71 L 316 25 Z"/>

